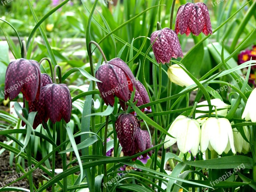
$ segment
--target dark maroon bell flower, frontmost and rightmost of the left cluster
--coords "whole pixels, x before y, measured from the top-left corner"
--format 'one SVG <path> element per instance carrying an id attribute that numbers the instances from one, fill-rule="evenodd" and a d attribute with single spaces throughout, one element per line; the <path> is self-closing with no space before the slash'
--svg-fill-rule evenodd
<path id="1" fill-rule="evenodd" d="M 53 124 L 62 118 L 70 121 L 72 99 L 66 84 L 47 84 L 42 88 L 42 107 L 45 108 L 45 118 L 50 118 Z"/>

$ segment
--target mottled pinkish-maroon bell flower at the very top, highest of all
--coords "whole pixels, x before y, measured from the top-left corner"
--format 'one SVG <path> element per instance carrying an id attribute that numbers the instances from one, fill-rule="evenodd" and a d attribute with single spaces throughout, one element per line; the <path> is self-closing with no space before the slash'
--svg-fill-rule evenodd
<path id="1" fill-rule="evenodd" d="M 212 24 L 207 6 L 204 3 L 186 3 L 181 5 L 177 12 L 175 21 L 175 32 L 177 35 L 190 32 L 198 36 L 201 32 L 204 35 L 212 34 Z"/>

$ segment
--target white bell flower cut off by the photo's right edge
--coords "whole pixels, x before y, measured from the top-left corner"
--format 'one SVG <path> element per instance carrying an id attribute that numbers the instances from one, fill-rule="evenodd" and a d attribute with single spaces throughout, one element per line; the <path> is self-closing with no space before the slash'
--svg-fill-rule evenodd
<path id="1" fill-rule="evenodd" d="M 251 92 L 247 103 L 244 108 L 244 113 L 242 118 L 245 118 L 246 121 L 251 120 L 253 123 L 256 122 L 256 88 Z"/>

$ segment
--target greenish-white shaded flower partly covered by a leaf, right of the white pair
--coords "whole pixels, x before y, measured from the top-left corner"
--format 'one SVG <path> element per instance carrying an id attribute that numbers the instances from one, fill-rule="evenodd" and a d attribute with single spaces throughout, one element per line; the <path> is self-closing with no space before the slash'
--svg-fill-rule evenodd
<path id="1" fill-rule="evenodd" d="M 247 140 L 249 140 L 250 133 L 249 133 L 248 127 L 243 126 L 243 129 L 244 129 L 244 133 L 245 133 Z M 247 141 L 244 140 L 241 133 L 238 132 L 236 128 L 233 129 L 233 136 L 234 136 L 235 150 L 238 153 L 241 153 L 241 152 L 244 154 L 248 153 L 250 151 L 250 143 L 248 143 Z"/>

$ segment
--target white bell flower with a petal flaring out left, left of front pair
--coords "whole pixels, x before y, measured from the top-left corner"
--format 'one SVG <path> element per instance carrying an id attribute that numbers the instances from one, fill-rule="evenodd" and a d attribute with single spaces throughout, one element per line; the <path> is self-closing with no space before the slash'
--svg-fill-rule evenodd
<path id="1" fill-rule="evenodd" d="M 192 155 L 196 156 L 201 130 L 199 123 L 195 119 L 190 119 L 183 115 L 178 116 L 172 122 L 168 133 L 175 138 L 166 135 L 164 142 L 167 142 L 164 143 L 164 148 L 168 148 L 177 142 L 178 148 L 182 153 L 191 151 Z"/>

